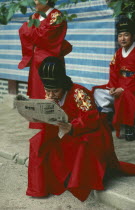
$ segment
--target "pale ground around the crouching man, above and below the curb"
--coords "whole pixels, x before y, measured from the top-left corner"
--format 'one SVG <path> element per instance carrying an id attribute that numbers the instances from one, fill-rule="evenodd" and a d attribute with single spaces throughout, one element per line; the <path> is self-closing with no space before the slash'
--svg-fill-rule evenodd
<path id="1" fill-rule="evenodd" d="M 18 114 L 16 109 L 7 106 L 6 103 L 0 104 L 0 156 L 6 158 L 0 157 L 0 177 L 2 177 L 0 179 L 0 210 L 115 210 L 114 207 L 105 207 L 103 204 L 98 203 L 92 195 L 84 203 L 78 201 L 69 192 L 46 199 L 33 199 L 25 196 L 27 167 L 24 165 L 27 166 L 28 139 L 36 132 L 38 131 L 28 129 L 28 122 Z M 135 163 L 135 141 L 127 142 L 124 139 L 117 139 L 115 134 L 113 135 L 118 158 L 122 161 Z M 19 164 L 15 164 L 15 162 Z M 105 203 L 119 207 L 120 204 L 115 205 L 117 203 L 116 197 L 118 197 L 118 200 L 123 202 L 123 206 L 125 205 L 124 201 L 125 203 L 132 201 L 134 205 L 134 183 L 135 177 L 112 181 L 111 186 L 107 187 L 110 191 L 104 191 L 100 196 L 97 196 L 98 200 L 104 202 L 104 200 L 109 201 L 110 197 L 114 197 L 113 203 L 111 203 L 112 201 L 110 203 L 105 201 Z M 124 188 L 121 188 L 121 185 Z M 127 192 L 129 197 L 127 197 L 127 194 L 122 195 L 124 191 Z M 124 201 L 120 199 L 122 196 L 125 196 Z M 124 210 L 125 208 L 120 209 Z M 129 207 L 128 209 L 133 208 Z"/>

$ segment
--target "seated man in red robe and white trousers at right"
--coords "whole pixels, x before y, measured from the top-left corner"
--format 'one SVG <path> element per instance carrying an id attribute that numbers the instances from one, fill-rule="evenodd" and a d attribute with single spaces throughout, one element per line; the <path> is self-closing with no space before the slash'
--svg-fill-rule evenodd
<path id="1" fill-rule="evenodd" d="M 135 140 L 135 23 L 121 18 L 116 27 L 121 47 L 110 63 L 108 84 L 94 87 L 94 96 L 102 114 L 112 111 L 114 103 L 116 135 L 119 137 L 120 126 L 124 125 L 125 139 L 132 141 Z"/>

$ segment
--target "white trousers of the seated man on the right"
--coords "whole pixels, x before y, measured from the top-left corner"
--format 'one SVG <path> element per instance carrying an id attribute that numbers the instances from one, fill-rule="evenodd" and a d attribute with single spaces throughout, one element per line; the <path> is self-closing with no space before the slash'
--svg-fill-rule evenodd
<path id="1" fill-rule="evenodd" d="M 94 99 L 99 111 L 113 112 L 114 97 L 109 94 L 109 90 L 95 89 Z"/>

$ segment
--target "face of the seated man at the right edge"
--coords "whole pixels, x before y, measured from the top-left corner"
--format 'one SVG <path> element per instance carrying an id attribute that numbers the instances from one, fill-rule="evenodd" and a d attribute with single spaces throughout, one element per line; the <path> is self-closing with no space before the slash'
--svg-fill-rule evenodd
<path id="1" fill-rule="evenodd" d="M 133 44 L 134 36 L 129 32 L 121 32 L 118 34 L 118 43 L 121 47 L 124 47 L 125 50 L 128 50 L 129 47 Z"/>

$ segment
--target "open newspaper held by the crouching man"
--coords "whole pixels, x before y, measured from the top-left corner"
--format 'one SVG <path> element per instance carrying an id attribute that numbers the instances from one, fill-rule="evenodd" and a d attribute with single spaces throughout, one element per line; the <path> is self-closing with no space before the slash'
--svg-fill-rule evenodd
<path id="1" fill-rule="evenodd" d="M 47 99 L 29 99 L 23 95 L 17 95 L 14 100 L 19 114 L 30 122 L 44 122 L 57 125 L 58 122 L 68 123 L 68 116 L 55 101 Z M 59 137 L 64 133 L 59 130 Z"/>

